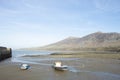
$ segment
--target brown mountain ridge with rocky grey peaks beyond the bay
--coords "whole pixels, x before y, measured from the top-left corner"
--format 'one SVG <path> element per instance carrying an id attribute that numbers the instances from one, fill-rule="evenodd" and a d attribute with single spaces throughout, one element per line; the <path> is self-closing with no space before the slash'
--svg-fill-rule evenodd
<path id="1" fill-rule="evenodd" d="M 120 33 L 95 32 L 82 38 L 68 37 L 37 50 L 120 50 Z"/>

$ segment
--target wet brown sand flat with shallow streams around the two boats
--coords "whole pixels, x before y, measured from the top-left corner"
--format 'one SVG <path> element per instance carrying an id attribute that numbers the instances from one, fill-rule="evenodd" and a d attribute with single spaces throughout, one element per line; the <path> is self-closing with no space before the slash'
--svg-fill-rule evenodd
<path id="1" fill-rule="evenodd" d="M 54 70 L 51 66 L 55 61 L 68 65 L 68 70 Z M 28 63 L 30 69 L 20 70 L 21 63 Z M 7 59 L 0 62 L 0 80 L 120 80 L 120 60 L 61 57 Z"/>

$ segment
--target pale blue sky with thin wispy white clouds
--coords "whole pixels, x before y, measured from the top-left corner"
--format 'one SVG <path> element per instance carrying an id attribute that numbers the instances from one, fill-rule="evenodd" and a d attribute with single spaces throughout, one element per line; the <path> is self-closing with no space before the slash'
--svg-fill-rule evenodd
<path id="1" fill-rule="evenodd" d="M 119 25 L 120 0 L 0 0 L 0 46 L 13 49 L 120 33 Z"/>

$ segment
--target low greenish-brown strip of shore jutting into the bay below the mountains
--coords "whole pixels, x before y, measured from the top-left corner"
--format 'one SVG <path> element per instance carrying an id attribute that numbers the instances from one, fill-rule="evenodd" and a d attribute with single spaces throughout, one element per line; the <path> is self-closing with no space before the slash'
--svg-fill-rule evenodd
<path id="1" fill-rule="evenodd" d="M 37 58 L 100 58 L 100 59 L 117 59 L 120 60 L 120 53 L 89 53 L 89 52 L 85 52 L 85 53 L 80 53 L 80 52 L 72 52 L 72 53 L 65 53 L 65 52 L 55 52 L 55 53 L 51 53 L 49 55 L 25 55 L 22 57 L 37 57 Z"/>

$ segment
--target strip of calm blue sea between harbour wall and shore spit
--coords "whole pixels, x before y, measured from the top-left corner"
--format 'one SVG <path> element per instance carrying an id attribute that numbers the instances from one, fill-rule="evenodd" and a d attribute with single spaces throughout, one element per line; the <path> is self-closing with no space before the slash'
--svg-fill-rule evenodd
<path id="1" fill-rule="evenodd" d="M 51 51 L 29 51 L 29 50 L 13 50 L 12 57 L 20 57 L 25 55 L 48 55 Z"/>

